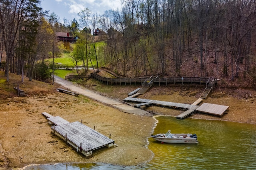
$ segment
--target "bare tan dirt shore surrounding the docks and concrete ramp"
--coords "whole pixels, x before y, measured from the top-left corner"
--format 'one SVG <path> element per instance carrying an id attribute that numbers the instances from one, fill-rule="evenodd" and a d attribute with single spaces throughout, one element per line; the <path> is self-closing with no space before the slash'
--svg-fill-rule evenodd
<path id="1" fill-rule="evenodd" d="M 20 80 L 11 80 L 19 82 Z M 0 84 L 1 85 L 1 84 Z M 155 119 L 152 115 L 176 116 L 180 110 L 157 106 L 146 107 L 149 116 L 123 113 L 83 96 L 56 92 L 56 87 L 41 82 L 25 80 L 20 86 L 26 97 L 17 97 L 12 84 L 1 86 L 0 91 L 0 168 L 18 168 L 27 164 L 57 162 L 104 162 L 136 165 L 149 161 L 153 154 L 146 149 Z M 106 86 L 91 80 L 86 88 L 104 96 L 122 101 L 138 86 Z M 155 100 L 191 104 L 197 100 L 203 86 L 153 86 L 140 96 Z M 256 123 L 256 93 L 253 90 L 222 90 L 215 88 L 204 102 L 229 106 L 223 117 L 196 113 L 192 117 Z M 60 116 L 67 121 L 81 121 L 88 127 L 109 136 L 118 147 L 100 149 L 89 158 L 50 133 L 50 125 L 42 112 Z"/>

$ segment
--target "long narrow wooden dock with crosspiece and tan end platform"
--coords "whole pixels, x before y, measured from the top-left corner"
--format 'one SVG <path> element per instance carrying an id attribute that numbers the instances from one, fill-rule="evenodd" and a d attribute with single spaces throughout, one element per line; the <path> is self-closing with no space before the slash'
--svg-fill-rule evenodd
<path id="1" fill-rule="evenodd" d="M 228 106 L 218 105 L 218 104 L 209 104 L 204 103 L 201 106 L 197 106 L 195 104 L 199 104 L 202 102 L 202 100 L 197 100 L 193 104 L 180 104 L 180 103 L 173 103 L 173 102 L 164 102 L 160 100 L 149 100 L 149 99 L 140 99 L 140 98 L 125 98 L 124 102 L 138 102 L 138 103 L 151 103 L 158 106 L 165 106 L 165 107 L 172 107 L 177 109 L 185 109 L 186 111 L 181 113 L 177 116 L 177 119 L 183 119 L 184 117 L 187 117 L 188 115 L 191 115 L 195 111 L 206 113 L 210 115 L 218 115 L 222 116 L 224 112 L 228 109 Z"/>

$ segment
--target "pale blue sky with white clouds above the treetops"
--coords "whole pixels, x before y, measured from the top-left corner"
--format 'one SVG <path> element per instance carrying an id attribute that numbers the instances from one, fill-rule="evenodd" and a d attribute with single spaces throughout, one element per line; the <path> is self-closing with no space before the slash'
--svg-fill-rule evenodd
<path id="1" fill-rule="evenodd" d="M 102 15 L 106 10 L 121 10 L 121 0 L 41 0 L 41 7 L 48 10 L 49 14 L 54 12 L 63 23 L 63 19 L 78 21 L 77 13 L 89 8 L 92 14 Z"/>

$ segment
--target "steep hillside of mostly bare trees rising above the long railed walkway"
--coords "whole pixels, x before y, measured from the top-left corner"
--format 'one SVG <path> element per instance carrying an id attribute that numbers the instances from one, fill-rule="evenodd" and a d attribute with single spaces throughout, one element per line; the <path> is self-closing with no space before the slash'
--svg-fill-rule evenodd
<path id="1" fill-rule="evenodd" d="M 126 0 L 125 4 L 122 11 L 110 13 L 114 19 L 105 61 L 114 72 L 214 76 L 254 86 L 254 0 Z"/>

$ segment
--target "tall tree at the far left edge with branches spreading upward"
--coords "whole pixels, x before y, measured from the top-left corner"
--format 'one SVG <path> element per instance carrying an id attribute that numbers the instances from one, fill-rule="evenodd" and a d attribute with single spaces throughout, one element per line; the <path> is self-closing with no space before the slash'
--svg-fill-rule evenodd
<path id="1" fill-rule="evenodd" d="M 1 0 L 0 2 L 0 27 L 6 51 L 7 81 L 9 81 L 10 61 L 14 59 L 18 31 L 28 15 L 42 10 L 38 7 L 39 4 L 40 0 Z"/>

